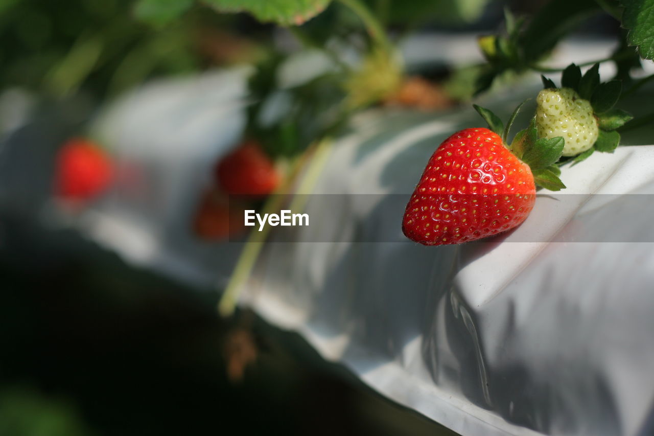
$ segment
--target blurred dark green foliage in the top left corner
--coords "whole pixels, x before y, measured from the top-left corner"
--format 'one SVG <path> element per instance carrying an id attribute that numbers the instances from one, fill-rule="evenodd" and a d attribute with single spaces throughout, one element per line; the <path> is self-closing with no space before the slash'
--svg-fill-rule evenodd
<path id="1" fill-rule="evenodd" d="M 0 88 L 103 95 L 199 67 L 198 20 L 152 31 L 133 19 L 132 7 L 131 0 L 0 1 Z"/>

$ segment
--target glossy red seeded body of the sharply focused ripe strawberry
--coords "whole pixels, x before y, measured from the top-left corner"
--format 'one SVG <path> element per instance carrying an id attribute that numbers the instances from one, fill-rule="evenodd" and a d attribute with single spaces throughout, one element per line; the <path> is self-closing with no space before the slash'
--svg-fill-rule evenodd
<path id="1" fill-rule="evenodd" d="M 436 149 L 411 195 L 402 231 L 424 245 L 461 244 L 517 227 L 534 208 L 527 164 L 487 128 L 456 132 Z"/>

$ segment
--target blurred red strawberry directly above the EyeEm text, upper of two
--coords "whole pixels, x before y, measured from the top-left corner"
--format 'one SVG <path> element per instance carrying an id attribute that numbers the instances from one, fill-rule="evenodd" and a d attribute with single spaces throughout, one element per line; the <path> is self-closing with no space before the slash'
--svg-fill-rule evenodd
<path id="1" fill-rule="evenodd" d="M 246 141 L 216 166 L 220 187 L 232 195 L 264 196 L 275 191 L 279 174 L 273 162 L 254 141 Z"/>

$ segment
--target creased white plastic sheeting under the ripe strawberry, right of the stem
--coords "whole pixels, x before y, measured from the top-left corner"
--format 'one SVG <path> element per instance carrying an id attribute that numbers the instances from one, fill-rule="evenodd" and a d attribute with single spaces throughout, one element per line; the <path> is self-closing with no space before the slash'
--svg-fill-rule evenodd
<path id="1" fill-rule="evenodd" d="M 311 192 L 408 198 L 435 147 L 478 124 L 461 113 L 421 117 L 360 120 Z M 562 177 L 569 194 L 652 194 L 651 168 L 654 146 L 621 147 Z M 541 194 L 503 239 L 441 247 L 405 240 L 404 211 L 385 209 L 383 199 L 339 198 L 339 209 L 307 206 L 317 225 L 298 228 L 298 243 L 273 237 L 244 304 L 464 435 L 645 431 L 654 405 L 654 246 L 638 241 L 652 240 L 650 196 L 638 228 L 620 228 L 619 204 L 606 201 L 619 196 L 558 202 Z M 625 242 L 515 242 L 557 240 L 571 229 L 585 240 L 615 229 Z M 396 242 L 351 243 L 357 232 Z"/>

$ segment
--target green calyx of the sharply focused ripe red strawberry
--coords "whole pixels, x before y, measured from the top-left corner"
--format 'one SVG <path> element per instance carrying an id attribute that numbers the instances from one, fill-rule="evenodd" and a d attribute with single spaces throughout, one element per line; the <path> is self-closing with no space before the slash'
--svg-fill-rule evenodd
<path id="1" fill-rule="evenodd" d="M 504 126 L 500 117 L 492 113 L 489 109 L 478 105 L 473 105 L 473 107 L 486 120 L 489 129 L 502 137 L 502 142 L 506 145 L 508 144 L 509 130 L 511 130 L 511 126 L 525 102 L 523 101 L 515 108 L 506 126 Z M 566 187 L 559 179 L 561 172 L 557 166 L 564 145 L 565 141 L 560 136 L 550 139 L 545 137 L 539 139 L 536 118 L 534 117 L 530 121 L 529 126 L 525 130 L 521 130 L 515 134 L 511 145 L 506 145 L 506 147 L 531 168 L 536 185 L 549 189 L 549 191 L 560 191 Z"/>

